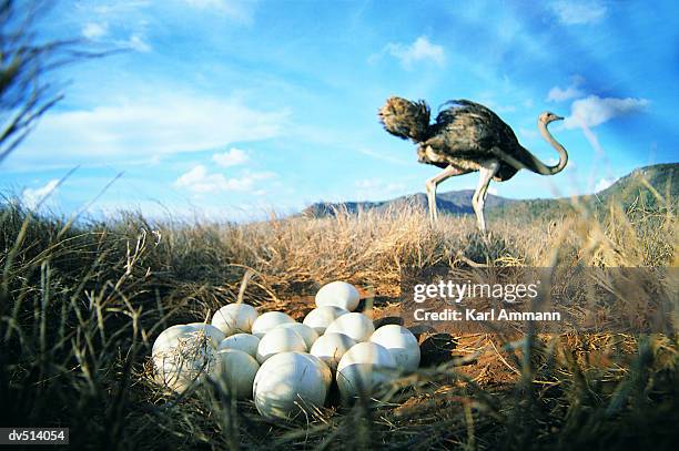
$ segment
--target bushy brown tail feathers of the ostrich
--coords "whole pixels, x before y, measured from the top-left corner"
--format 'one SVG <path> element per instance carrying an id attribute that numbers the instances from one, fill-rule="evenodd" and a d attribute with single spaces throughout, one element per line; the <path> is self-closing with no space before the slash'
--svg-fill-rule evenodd
<path id="1" fill-rule="evenodd" d="M 429 130 L 429 106 L 425 101 L 411 102 L 389 98 L 377 113 L 379 122 L 391 134 L 415 142 L 426 141 Z"/>

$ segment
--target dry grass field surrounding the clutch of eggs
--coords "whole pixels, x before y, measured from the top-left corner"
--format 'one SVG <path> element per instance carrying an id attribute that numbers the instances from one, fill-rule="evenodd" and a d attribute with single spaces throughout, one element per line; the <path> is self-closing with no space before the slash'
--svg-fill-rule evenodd
<path id="1" fill-rule="evenodd" d="M 405 266 L 676 267 L 676 212 L 662 205 L 496 218 L 483 237 L 470 218 L 432 227 L 409 208 L 246 225 L 140 214 L 102 223 L 8 201 L 0 423 L 69 427 L 71 447 L 98 450 L 673 449 L 676 334 L 423 336 L 420 369 L 381 401 L 328 402 L 275 423 L 219 387 L 170 394 L 150 363 L 162 329 L 209 319 L 242 286 L 260 311 L 301 318 L 322 284 L 347 280 L 379 320 L 399 301 Z M 656 284 L 676 294 L 677 280 Z"/>

